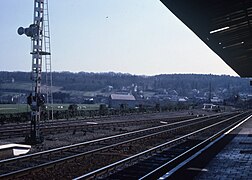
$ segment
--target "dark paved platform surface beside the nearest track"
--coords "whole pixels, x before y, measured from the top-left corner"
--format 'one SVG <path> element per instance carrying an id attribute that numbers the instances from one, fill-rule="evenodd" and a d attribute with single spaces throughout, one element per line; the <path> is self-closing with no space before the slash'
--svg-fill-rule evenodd
<path id="1" fill-rule="evenodd" d="M 200 171 L 195 179 L 252 179 L 252 118 L 230 135 L 234 138 L 204 168 L 187 169 Z"/>

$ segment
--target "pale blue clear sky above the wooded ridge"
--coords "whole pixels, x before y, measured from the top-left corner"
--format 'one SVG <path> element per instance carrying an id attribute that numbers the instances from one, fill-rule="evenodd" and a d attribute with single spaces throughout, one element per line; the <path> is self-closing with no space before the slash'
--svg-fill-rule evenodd
<path id="1" fill-rule="evenodd" d="M 49 0 L 52 71 L 238 76 L 159 0 Z M 0 71 L 30 71 L 33 0 L 0 1 Z"/>

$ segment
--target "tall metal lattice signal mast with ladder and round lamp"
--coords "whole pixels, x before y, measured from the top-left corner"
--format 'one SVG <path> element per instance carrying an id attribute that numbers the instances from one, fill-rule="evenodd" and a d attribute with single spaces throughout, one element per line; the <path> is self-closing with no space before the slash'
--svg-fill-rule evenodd
<path id="1" fill-rule="evenodd" d="M 30 144 L 43 141 L 40 132 L 42 106 L 45 100 L 47 100 L 47 103 L 53 103 L 48 0 L 34 0 L 33 18 L 33 24 L 28 28 L 18 28 L 18 34 L 25 34 L 27 37 L 30 37 L 32 43 L 32 51 L 30 53 L 32 55 L 32 92 L 27 98 L 27 103 L 31 107 L 31 132 L 26 137 L 26 141 Z M 41 93 L 42 61 L 45 61 L 46 86 L 49 87 L 46 88 L 46 98 Z"/>

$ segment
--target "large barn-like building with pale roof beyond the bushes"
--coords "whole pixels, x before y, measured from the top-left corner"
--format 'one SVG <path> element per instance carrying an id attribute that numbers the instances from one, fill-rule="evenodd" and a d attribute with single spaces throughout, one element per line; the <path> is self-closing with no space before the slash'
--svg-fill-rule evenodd
<path id="1" fill-rule="evenodd" d="M 136 98 L 131 94 L 111 94 L 109 96 L 109 107 L 115 109 L 135 108 Z"/>

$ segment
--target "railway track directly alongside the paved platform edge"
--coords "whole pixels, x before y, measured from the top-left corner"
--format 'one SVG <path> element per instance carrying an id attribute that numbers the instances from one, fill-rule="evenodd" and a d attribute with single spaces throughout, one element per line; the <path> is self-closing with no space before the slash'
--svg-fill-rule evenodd
<path id="1" fill-rule="evenodd" d="M 75 180 L 170 178 L 186 161 L 190 161 L 195 154 L 247 117 L 251 117 L 251 112 L 235 115 L 196 131 L 187 132 L 134 156 L 86 173 Z M 181 143 L 171 146 L 175 141 Z"/>

